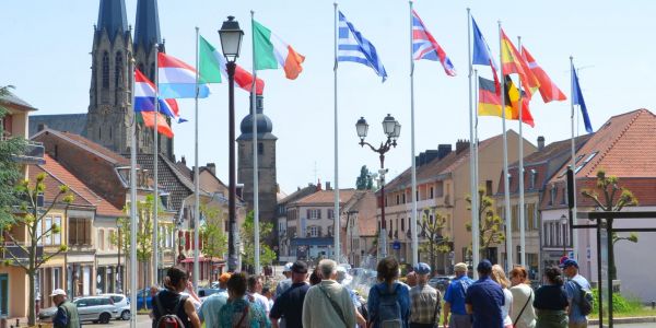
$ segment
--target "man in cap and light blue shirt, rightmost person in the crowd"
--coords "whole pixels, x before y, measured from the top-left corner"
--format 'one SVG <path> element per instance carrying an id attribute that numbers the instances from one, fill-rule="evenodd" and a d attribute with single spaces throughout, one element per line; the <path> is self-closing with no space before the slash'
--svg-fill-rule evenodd
<path id="1" fill-rule="evenodd" d="M 567 294 L 567 301 L 570 302 L 567 313 L 570 317 L 570 328 L 586 328 L 587 316 L 581 308 L 581 303 L 585 302 L 582 300 L 582 291 L 589 292 L 590 283 L 585 277 L 578 274 L 578 262 L 576 262 L 575 259 L 566 259 L 560 267 L 567 277 L 567 282 L 565 282 L 565 293 Z"/>

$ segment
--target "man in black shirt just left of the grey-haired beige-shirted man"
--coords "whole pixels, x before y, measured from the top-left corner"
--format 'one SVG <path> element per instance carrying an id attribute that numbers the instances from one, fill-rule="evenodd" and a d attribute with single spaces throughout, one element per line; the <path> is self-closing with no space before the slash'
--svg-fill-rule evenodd
<path id="1" fill-rule="evenodd" d="M 286 328 L 303 328 L 303 301 L 309 290 L 306 278 L 307 265 L 304 261 L 295 261 L 292 265 L 292 286 L 276 300 L 269 314 L 273 328 L 279 327 L 280 318 L 285 319 Z"/>

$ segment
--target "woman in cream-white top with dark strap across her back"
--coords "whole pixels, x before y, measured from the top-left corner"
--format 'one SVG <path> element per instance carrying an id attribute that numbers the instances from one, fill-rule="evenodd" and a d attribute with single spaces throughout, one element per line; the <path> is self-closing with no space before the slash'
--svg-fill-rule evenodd
<path id="1" fill-rule="evenodd" d="M 524 267 L 515 267 L 511 271 L 511 293 L 513 293 L 513 323 L 515 328 L 536 327 L 536 312 L 532 307 L 535 294 L 530 288 L 528 272 Z"/>

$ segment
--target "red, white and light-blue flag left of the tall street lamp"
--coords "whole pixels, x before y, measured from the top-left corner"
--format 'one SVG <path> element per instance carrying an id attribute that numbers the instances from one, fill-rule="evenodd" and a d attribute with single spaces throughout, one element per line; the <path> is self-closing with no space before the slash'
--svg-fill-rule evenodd
<path id="1" fill-rule="evenodd" d="M 161 98 L 194 98 L 196 97 L 196 70 L 184 61 L 157 52 L 157 86 Z M 210 95 L 210 89 L 199 81 L 198 97 Z"/>

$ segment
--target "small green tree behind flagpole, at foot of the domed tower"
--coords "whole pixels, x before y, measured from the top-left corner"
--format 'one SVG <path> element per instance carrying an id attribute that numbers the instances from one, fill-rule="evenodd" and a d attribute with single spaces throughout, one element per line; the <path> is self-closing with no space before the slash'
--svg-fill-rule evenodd
<path id="1" fill-rule="evenodd" d="M 273 224 L 271 222 L 259 222 L 260 265 L 262 266 L 271 265 L 276 260 L 276 253 L 265 243 L 272 231 Z M 239 236 L 242 237 L 242 245 L 244 247 L 242 262 L 245 266 L 255 266 L 255 223 L 253 211 L 246 215 Z"/>

